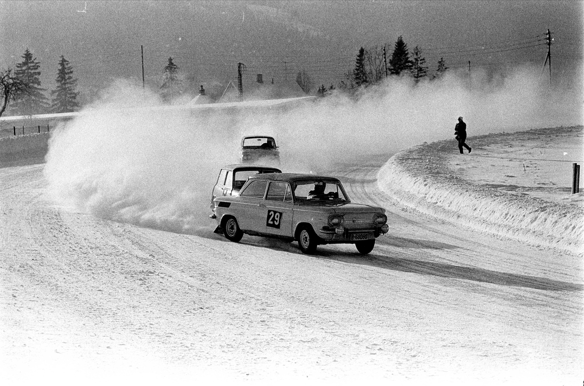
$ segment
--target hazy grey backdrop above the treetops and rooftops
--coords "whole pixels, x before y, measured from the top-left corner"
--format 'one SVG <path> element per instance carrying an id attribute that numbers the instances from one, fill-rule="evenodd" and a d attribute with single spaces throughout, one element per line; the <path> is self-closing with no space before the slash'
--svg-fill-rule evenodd
<path id="1" fill-rule="evenodd" d="M 50 90 L 64 55 L 91 94 L 116 78 L 141 82 L 143 45 L 152 87 L 169 57 L 208 87 L 235 82 L 238 62 L 248 81 L 304 69 L 329 85 L 359 47 L 387 45 L 390 56 L 399 36 L 422 48 L 430 72 L 440 57 L 452 69 L 543 67 L 550 29 L 552 71 L 565 77 L 582 71 L 583 10 L 582 1 L 1 1 L 0 69 L 29 48 Z"/>

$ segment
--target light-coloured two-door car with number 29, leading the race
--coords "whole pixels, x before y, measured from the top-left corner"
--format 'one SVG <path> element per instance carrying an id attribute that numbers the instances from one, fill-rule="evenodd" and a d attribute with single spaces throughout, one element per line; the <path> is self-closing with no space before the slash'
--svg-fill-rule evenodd
<path id="1" fill-rule="evenodd" d="M 352 203 L 333 177 L 312 174 L 256 174 L 235 196 L 214 199 L 216 233 L 238 242 L 244 234 L 298 241 L 311 254 L 319 244 L 355 244 L 368 254 L 387 233 L 385 209 Z"/>

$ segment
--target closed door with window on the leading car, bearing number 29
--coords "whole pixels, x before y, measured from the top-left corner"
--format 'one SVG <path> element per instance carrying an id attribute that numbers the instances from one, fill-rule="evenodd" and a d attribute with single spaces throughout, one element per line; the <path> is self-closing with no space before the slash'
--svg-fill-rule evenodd
<path id="1" fill-rule="evenodd" d="M 292 194 L 286 181 L 270 181 L 265 207 L 265 233 L 293 237 Z"/>

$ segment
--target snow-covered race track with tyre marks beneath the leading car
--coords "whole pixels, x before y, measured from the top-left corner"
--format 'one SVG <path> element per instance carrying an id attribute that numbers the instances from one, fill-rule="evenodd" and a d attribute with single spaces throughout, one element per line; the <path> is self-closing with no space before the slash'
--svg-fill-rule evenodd
<path id="1" fill-rule="evenodd" d="M 581 384 L 581 257 L 405 208 L 385 161 L 337 173 L 389 212 L 366 257 L 102 220 L 0 169 L 2 382 Z"/>

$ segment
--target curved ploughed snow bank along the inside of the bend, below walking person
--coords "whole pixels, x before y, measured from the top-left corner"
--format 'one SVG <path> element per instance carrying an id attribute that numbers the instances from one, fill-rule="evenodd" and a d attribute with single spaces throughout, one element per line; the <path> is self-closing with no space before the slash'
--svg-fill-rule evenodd
<path id="1" fill-rule="evenodd" d="M 505 136 L 509 140 L 512 135 Z M 479 152 L 488 138 L 479 136 L 468 142 Z M 399 152 L 379 171 L 378 185 L 405 206 L 461 227 L 561 251 L 583 252 L 584 209 L 473 184 L 449 167 L 447 157 L 457 151 L 456 143 L 446 140 Z"/>

